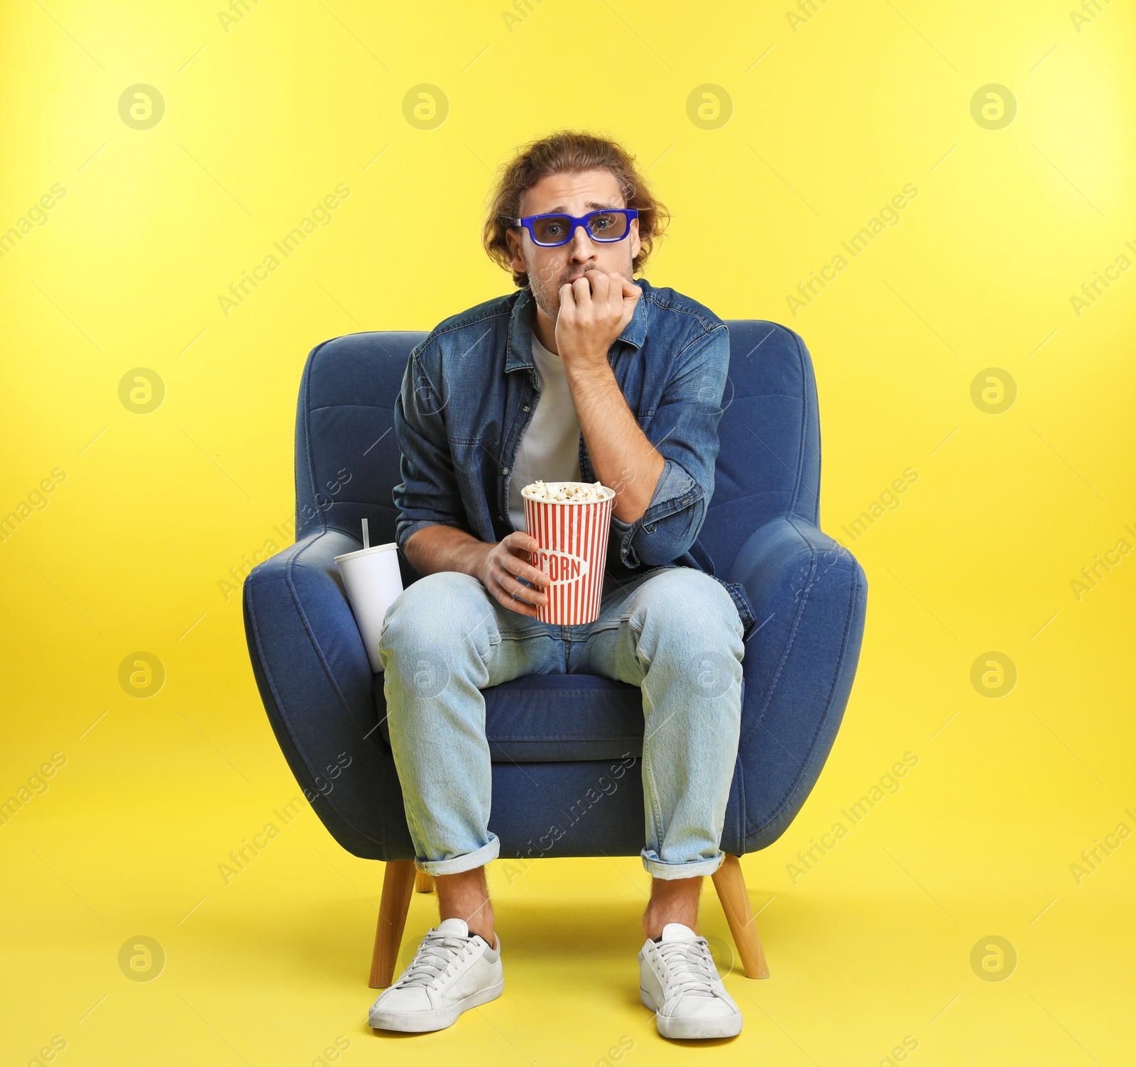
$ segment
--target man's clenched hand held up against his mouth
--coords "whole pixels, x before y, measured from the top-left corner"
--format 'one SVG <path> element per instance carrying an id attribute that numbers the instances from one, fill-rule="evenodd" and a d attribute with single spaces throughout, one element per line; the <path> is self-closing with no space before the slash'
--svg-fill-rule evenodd
<path id="1" fill-rule="evenodd" d="M 586 270 L 560 286 L 557 348 L 566 370 L 608 368 L 608 349 L 635 314 L 643 290 L 621 274 Z"/>

